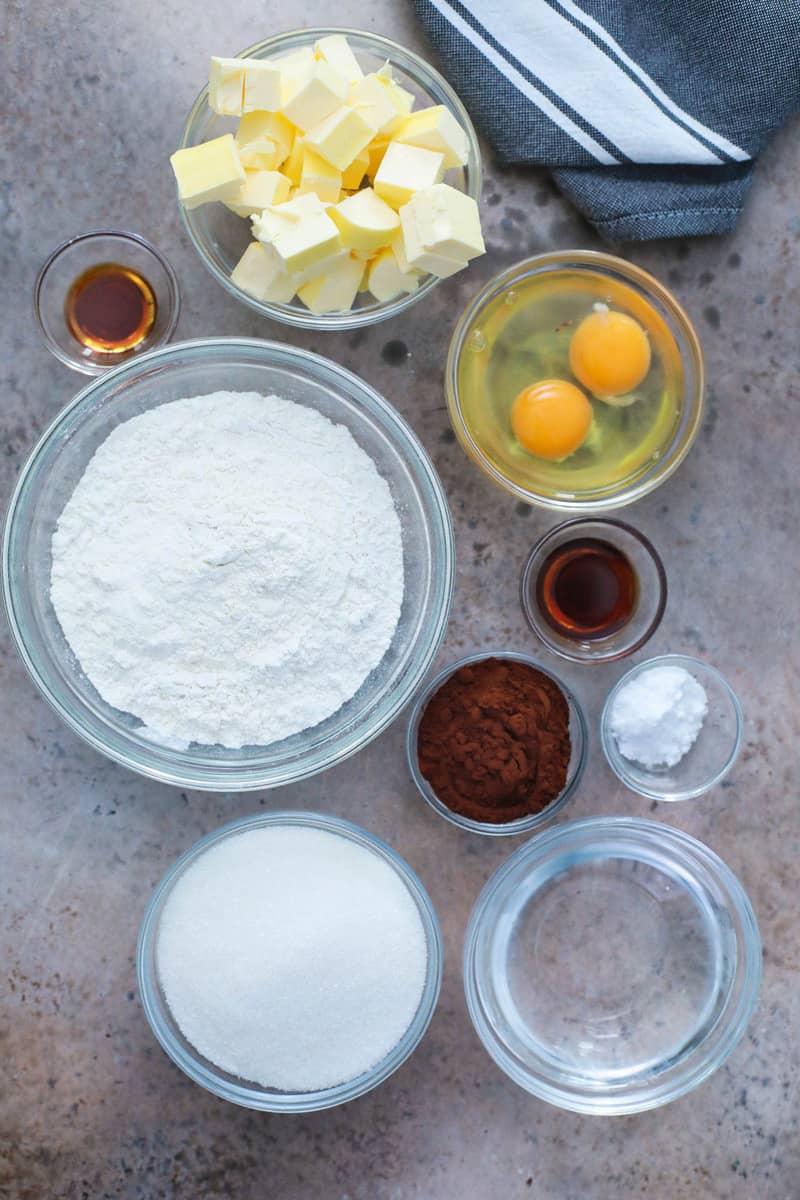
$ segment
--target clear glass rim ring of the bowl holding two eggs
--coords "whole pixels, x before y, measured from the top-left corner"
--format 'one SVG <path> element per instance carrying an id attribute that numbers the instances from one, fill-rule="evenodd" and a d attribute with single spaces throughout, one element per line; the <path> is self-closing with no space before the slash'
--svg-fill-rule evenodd
<path id="1" fill-rule="evenodd" d="M 487 310 L 503 296 L 513 304 L 519 289 L 531 278 L 563 271 L 602 276 L 609 284 L 624 286 L 655 311 L 675 341 L 684 386 L 676 397 L 678 414 L 669 439 L 646 463 L 624 479 L 570 491 L 559 482 L 522 482 L 512 478 L 498 455 L 473 430 L 462 403 L 461 371 L 467 354 L 482 353 L 486 338 L 481 325 Z M 642 268 L 613 254 L 595 250 L 560 250 L 527 258 L 497 275 L 477 293 L 458 318 L 445 367 L 445 396 L 450 420 L 462 448 L 485 475 L 510 492 L 515 499 L 560 512 L 601 512 L 632 504 L 669 479 L 678 469 L 699 432 L 703 419 L 703 354 L 694 329 L 673 294 Z"/>

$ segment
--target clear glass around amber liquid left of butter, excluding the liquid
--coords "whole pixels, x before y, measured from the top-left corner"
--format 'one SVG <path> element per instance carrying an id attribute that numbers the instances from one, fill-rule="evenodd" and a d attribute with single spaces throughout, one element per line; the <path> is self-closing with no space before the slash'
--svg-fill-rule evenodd
<path id="1" fill-rule="evenodd" d="M 92 266 L 115 263 L 144 276 L 156 298 L 152 329 L 138 346 L 119 354 L 83 346 L 66 322 L 65 304 L 74 281 Z M 180 314 L 178 277 L 155 246 L 136 233 L 91 229 L 61 242 L 42 266 L 34 286 L 34 311 L 50 354 L 82 374 L 100 376 L 170 340 Z"/>

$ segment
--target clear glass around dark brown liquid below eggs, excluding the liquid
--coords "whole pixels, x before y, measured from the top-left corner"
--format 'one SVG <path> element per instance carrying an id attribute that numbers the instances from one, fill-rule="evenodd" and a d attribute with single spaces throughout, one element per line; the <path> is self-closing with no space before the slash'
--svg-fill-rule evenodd
<path id="1" fill-rule="evenodd" d="M 636 607 L 625 625 L 608 637 L 565 637 L 551 625 L 539 604 L 539 572 L 553 551 L 578 538 L 608 542 L 625 554 L 637 576 Z M 667 604 L 667 575 L 655 547 L 638 529 L 622 521 L 578 517 L 557 526 L 536 542 L 522 570 L 519 601 L 531 630 L 553 654 L 572 662 L 613 662 L 640 649 L 655 634 Z"/>

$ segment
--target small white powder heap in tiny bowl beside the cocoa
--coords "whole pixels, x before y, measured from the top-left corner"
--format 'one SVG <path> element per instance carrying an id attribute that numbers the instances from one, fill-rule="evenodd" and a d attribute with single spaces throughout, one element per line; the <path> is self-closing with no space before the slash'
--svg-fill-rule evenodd
<path id="1" fill-rule="evenodd" d="M 694 745 L 709 709 L 705 688 L 682 667 L 655 666 L 620 688 L 610 731 L 643 767 L 674 767 Z"/>

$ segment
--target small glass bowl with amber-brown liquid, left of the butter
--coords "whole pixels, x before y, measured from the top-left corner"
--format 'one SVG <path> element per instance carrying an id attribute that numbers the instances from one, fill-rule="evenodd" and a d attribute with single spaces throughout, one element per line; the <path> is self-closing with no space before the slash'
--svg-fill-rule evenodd
<path id="1" fill-rule="evenodd" d="M 172 266 L 144 238 L 94 229 L 53 251 L 38 272 L 34 308 L 50 353 L 98 376 L 169 341 L 180 293 Z"/>

